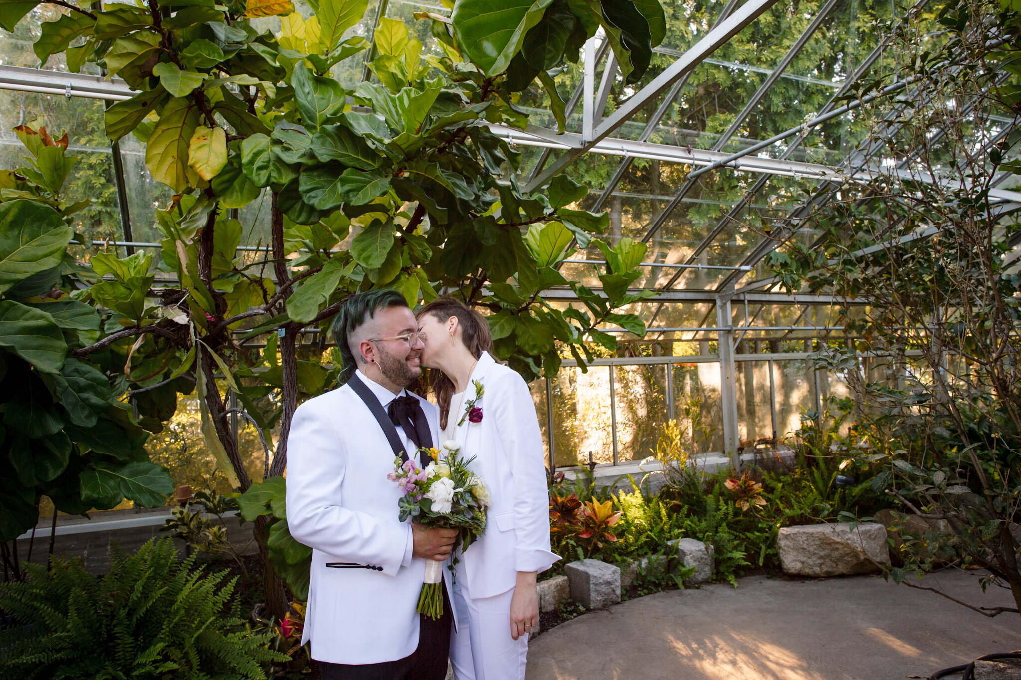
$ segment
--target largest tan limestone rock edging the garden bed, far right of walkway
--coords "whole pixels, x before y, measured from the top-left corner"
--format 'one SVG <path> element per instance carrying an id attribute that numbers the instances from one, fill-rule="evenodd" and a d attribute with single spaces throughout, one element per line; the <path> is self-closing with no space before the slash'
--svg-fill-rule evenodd
<path id="1" fill-rule="evenodd" d="M 880 571 L 875 563 L 890 565 L 886 528 L 875 522 L 784 527 L 776 549 L 784 574 L 869 574 Z"/>

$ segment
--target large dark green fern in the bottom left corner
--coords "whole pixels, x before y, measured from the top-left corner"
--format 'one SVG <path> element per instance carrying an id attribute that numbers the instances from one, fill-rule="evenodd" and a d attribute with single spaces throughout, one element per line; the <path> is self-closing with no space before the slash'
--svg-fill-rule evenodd
<path id="1" fill-rule="evenodd" d="M 247 680 L 287 661 L 239 617 L 236 579 L 180 562 L 171 538 L 138 552 L 113 546 L 97 578 L 79 560 L 30 565 L 26 583 L 0 586 L 0 608 L 25 627 L 3 631 L 0 675 L 96 680 Z"/>

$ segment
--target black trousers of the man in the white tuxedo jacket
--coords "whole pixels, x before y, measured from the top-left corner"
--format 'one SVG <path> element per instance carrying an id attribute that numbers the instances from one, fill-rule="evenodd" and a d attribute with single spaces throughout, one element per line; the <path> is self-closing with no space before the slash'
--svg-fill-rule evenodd
<path id="1" fill-rule="evenodd" d="M 450 657 L 453 614 L 446 583 L 443 584 L 443 615 L 430 619 L 420 614 L 419 646 L 409 657 L 380 664 L 329 664 L 317 662 L 323 680 L 443 680 Z"/>

